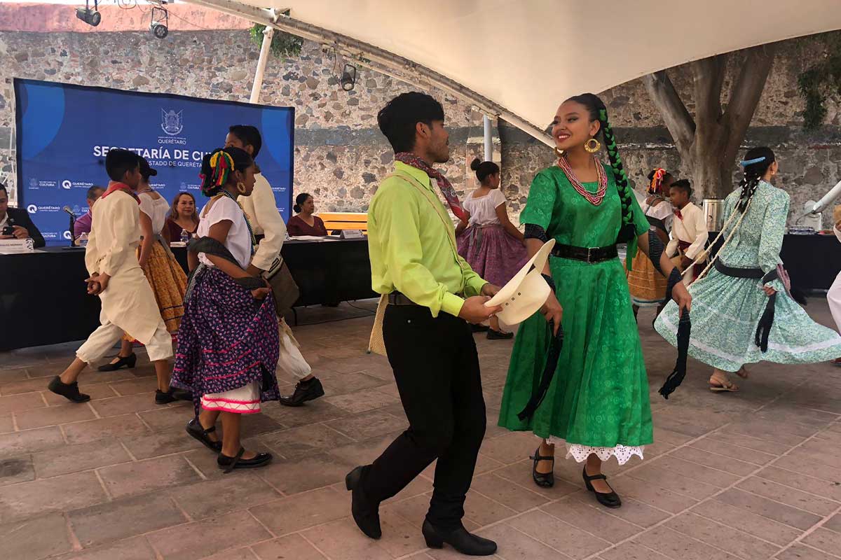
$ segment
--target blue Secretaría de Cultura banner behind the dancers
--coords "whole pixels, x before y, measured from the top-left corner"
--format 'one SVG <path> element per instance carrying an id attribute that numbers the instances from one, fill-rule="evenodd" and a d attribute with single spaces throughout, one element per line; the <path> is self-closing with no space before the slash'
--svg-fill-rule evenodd
<path id="1" fill-rule="evenodd" d="M 262 133 L 257 164 L 288 221 L 292 207 L 294 108 L 212 101 L 171 94 L 14 79 L 18 146 L 18 201 L 48 245 L 69 243 L 69 206 L 87 212 L 90 186 L 108 186 L 105 155 L 125 148 L 158 171 L 152 186 L 167 201 L 199 191 L 202 157 L 225 144 L 232 124 Z"/>

